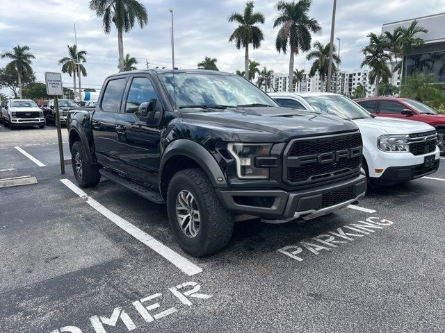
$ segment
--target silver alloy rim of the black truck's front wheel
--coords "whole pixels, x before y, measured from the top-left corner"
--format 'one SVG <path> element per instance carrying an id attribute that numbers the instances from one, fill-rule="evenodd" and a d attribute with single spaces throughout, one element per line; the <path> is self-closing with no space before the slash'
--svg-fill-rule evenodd
<path id="1" fill-rule="evenodd" d="M 179 227 L 189 238 L 200 232 L 200 211 L 193 194 L 186 189 L 179 191 L 176 197 L 176 216 Z"/>

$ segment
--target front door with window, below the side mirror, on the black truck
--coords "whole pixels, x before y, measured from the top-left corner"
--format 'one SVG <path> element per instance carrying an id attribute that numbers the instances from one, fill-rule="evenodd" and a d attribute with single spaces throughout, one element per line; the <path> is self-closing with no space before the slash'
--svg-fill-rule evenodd
<path id="1" fill-rule="evenodd" d="M 120 169 L 142 182 L 157 185 L 161 130 L 147 123 L 147 110 L 140 108 L 143 103 L 159 103 L 158 96 L 148 76 L 133 77 L 116 128 Z"/>

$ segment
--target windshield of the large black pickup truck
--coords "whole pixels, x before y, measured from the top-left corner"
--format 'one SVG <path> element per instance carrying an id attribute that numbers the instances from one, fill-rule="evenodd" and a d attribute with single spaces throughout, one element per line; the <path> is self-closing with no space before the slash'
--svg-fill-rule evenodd
<path id="1" fill-rule="evenodd" d="M 209 108 L 211 105 L 277 106 L 264 92 L 237 75 L 175 73 L 173 82 L 173 74 L 166 73 L 160 74 L 159 78 L 170 103 L 176 108 L 196 108 L 198 105 L 209 105 Z"/>

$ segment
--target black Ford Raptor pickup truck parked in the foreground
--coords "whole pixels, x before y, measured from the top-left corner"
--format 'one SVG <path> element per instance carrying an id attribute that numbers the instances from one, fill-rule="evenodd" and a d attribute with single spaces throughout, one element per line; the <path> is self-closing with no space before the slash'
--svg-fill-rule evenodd
<path id="1" fill-rule="evenodd" d="M 106 78 L 93 110 L 70 110 L 81 187 L 102 176 L 166 203 L 181 248 L 224 248 L 234 215 L 278 223 L 329 214 L 364 196 L 352 121 L 281 108 L 220 71 L 143 70 Z"/>

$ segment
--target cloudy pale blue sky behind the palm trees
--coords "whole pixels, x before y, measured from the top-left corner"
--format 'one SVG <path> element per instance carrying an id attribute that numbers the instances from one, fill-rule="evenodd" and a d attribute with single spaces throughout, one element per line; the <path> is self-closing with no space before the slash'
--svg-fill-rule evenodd
<path id="1" fill-rule="evenodd" d="M 228 42 L 235 24 L 228 23 L 231 12 L 242 12 L 245 0 L 140 0 L 148 10 L 149 23 L 124 34 L 124 53 L 138 59 L 138 68 L 171 66 L 170 12 L 175 12 L 175 60 L 180 68 L 195 68 L 204 56 L 218 59 L 218 68 L 233 72 L 243 68 L 243 50 Z M 67 44 L 74 44 L 76 24 L 79 48 L 88 51 L 83 87 L 99 88 L 118 65 L 116 31 L 105 35 L 102 21 L 88 8 L 88 0 L 10 0 L 1 1 L 0 51 L 13 46 L 28 45 L 35 55 L 33 69 L 37 80 L 44 80 L 45 71 L 60 71 L 57 62 L 67 53 Z M 250 58 L 275 72 L 285 72 L 289 56 L 275 51 L 277 16 L 275 1 L 256 0 L 255 10 L 266 17 L 265 40 L 261 49 L 251 50 Z M 445 0 L 338 0 L 335 37 L 341 38 L 342 69 L 356 69 L 362 61 L 360 49 L 366 34 L 380 33 L 382 24 L 445 12 Z M 318 19 L 323 31 L 312 40 L 323 43 L 330 38 L 332 0 L 313 0 L 310 15 Z M 336 40 L 337 42 L 337 40 Z M 0 59 L 0 67 L 8 60 Z M 296 58 L 296 67 L 309 69 L 305 56 Z M 65 87 L 72 79 L 63 74 Z M 10 94 L 10 92 L 3 90 Z"/>

